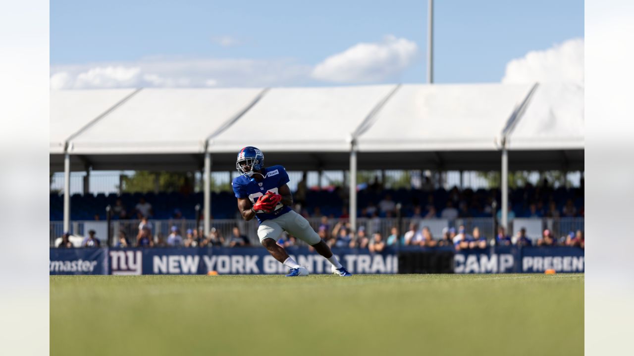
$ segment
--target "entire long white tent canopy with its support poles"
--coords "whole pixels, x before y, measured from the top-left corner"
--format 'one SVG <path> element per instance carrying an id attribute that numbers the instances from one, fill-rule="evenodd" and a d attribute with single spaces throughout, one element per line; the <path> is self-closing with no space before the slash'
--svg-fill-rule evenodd
<path id="1" fill-rule="evenodd" d="M 66 172 L 205 167 L 209 179 L 212 163 L 233 170 L 243 146 L 289 170 L 496 170 L 500 156 L 503 171 L 573 170 L 583 169 L 583 87 L 51 91 L 50 137 L 51 171 L 68 155 Z"/>

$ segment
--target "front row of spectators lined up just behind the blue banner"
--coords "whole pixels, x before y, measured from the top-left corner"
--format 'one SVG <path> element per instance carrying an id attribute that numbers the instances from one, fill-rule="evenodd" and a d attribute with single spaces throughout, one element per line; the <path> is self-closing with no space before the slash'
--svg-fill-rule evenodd
<path id="1" fill-rule="evenodd" d="M 186 229 L 184 236 L 178 226 L 174 225 L 170 229 L 170 234 L 164 238 L 161 234 L 153 234 L 152 222 L 147 218 L 141 219 L 138 226 L 136 238 L 132 241 L 124 231 L 119 231 L 119 236 L 113 246 L 126 247 L 205 247 L 224 246 L 239 248 L 252 246 L 249 238 L 240 231 L 240 227 L 231 229 L 231 234 L 223 236 L 219 229 L 212 227 L 209 236 L 205 237 L 202 229 Z M 436 246 L 453 246 L 456 251 L 483 249 L 488 246 L 572 246 L 585 248 L 583 231 L 569 232 L 566 236 L 557 238 L 552 232 L 545 229 L 538 239 L 531 239 L 526 236 L 526 229 L 517 231 L 515 236 L 509 236 L 503 227 L 498 227 L 497 234 L 490 239 L 482 234 L 479 227 L 474 227 L 470 232 L 465 226 L 445 227 L 442 235 L 435 238 L 429 227 L 419 226 L 412 222 L 406 232 L 401 234 L 398 227 L 392 226 L 387 238 L 373 229 L 372 234 L 368 234 L 365 226 L 359 226 L 356 234 L 353 233 L 350 223 L 347 220 L 337 220 L 334 226 L 330 226 L 330 220 L 323 217 L 318 227 L 318 234 L 326 241 L 328 246 L 335 248 L 360 248 L 370 252 L 383 251 L 387 246 L 420 246 L 432 248 Z M 61 238 L 58 248 L 72 248 L 73 244 L 69 240 L 70 234 L 65 233 Z M 286 232 L 278 240 L 280 246 L 298 245 L 297 238 Z M 96 238 L 93 230 L 89 231 L 89 236 L 84 238 L 82 247 L 99 247 L 100 239 Z"/>

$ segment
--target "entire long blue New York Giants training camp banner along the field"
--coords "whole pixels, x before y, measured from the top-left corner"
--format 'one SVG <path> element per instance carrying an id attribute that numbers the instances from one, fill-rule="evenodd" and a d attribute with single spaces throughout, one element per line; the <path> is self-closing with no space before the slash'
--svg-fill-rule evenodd
<path id="1" fill-rule="evenodd" d="M 401 251 L 451 250 L 404 247 Z M 305 247 L 287 248 L 288 254 L 312 274 L 328 274 L 330 262 Z M 333 248 L 353 274 L 398 273 L 398 250 L 383 253 Z M 458 251 L 455 273 L 584 272 L 584 250 L 566 247 L 500 246 Z M 264 248 L 72 248 L 50 249 L 50 274 L 284 274 L 288 268 Z"/>

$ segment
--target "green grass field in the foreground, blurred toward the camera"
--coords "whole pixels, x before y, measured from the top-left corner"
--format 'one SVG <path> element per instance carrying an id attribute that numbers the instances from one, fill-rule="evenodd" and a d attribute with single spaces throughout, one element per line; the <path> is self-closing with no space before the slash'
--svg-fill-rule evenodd
<path id="1" fill-rule="evenodd" d="M 50 282 L 51 355 L 583 355 L 583 274 Z"/>

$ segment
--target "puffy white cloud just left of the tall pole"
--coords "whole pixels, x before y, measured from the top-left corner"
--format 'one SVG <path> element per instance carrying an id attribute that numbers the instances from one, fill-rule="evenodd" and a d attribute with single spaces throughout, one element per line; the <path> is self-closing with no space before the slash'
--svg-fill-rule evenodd
<path id="1" fill-rule="evenodd" d="M 378 43 L 359 43 L 329 56 L 314 67 L 314 79 L 338 83 L 377 82 L 391 79 L 413 62 L 415 42 L 393 35 Z"/>

